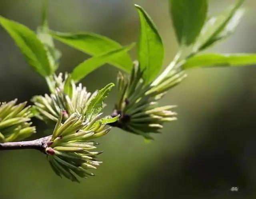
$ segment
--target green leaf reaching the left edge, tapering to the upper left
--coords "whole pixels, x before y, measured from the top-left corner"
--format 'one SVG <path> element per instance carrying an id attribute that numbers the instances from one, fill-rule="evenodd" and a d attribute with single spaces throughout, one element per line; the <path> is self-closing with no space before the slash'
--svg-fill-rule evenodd
<path id="1" fill-rule="evenodd" d="M 0 24 L 10 34 L 24 54 L 26 61 L 36 72 L 43 77 L 52 74 L 53 71 L 50 67 L 44 45 L 32 30 L 2 16 L 0 16 Z"/>

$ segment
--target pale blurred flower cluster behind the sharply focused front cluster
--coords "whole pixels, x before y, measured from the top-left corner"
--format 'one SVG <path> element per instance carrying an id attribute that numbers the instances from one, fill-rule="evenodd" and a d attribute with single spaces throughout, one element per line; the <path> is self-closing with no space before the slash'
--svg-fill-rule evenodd
<path id="1" fill-rule="evenodd" d="M 54 77 L 54 92 L 50 95 L 34 96 L 32 102 L 34 102 L 34 109 L 38 112 L 36 117 L 43 121 L 58 121 L 60 111 L 63 111 L 63 121 L 65 121 L 76 110 L 82 115 L 85 115 L 88 102 L 93 99 L 98 91 L 93 94 L 87 92 L 86 87 L 82 87 L 82 84 L 76 86 L 74 81 L 68 82 L 68 76 L 65 80 L 62 79 L 62 74 Z M 65 91 L 65 83 L 70 87 L 70 94 Z"/>

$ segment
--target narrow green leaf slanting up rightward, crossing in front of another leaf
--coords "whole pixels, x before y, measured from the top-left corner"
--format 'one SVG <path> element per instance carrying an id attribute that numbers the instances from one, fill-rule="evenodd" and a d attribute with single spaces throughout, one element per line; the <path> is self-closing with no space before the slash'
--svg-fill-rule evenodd
<path id="1" fill-rule="evenodd" d="M 119 58 L 125 52 L 129 51 L 133 46 L 134 44 L 131 44 L 129 46 L 125 46 L 117 50 L 112 50 L 110 52 L 85 60 L 84 62 L 76 66 L 76 68 L 74 68 L 73 72 L 71 73 L 72 79 L 75 82 L 79 82 L 82 78 L 84 78 L 90 72 L 96 70 L 103 64 L 106 64 L 110 62 L 110 60 L 114 60 L 115 58 Z"/>

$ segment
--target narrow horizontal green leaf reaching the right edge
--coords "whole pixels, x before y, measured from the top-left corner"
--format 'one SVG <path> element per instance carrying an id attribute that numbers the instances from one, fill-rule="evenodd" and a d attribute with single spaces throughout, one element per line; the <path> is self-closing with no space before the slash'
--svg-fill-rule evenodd
<path id="1" fill-rule="evenodd" d="M 256 64 L 256 54 L 200 54 L 189 58 L 182 68 L 245 66 L 254 64 Z"/>

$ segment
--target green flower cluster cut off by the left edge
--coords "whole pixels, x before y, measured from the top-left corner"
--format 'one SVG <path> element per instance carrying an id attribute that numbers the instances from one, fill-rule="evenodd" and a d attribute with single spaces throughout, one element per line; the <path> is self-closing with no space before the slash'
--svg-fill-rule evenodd
<path id="1" fill-rule="evenodd" d="M 36 132 L 31 126 L 32 113 L 26 102 L 17 104 L 17 99 L 0 103 L 0 142 L 20 141 Z"/>

